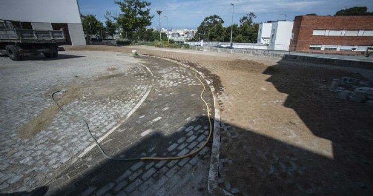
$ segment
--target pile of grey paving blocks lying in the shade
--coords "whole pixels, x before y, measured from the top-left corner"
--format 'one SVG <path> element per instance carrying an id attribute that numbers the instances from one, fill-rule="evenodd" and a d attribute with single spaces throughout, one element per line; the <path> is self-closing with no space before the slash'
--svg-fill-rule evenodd
<path id="1" fill-rule="evenodd" d="M 370 81 L 357 78 L 343 77 L 342 80 L 333 79 L 330 90 L 337 93 L 337 98 L 353 102 L 365 102 L 373 106 L 373 88 Z"/>

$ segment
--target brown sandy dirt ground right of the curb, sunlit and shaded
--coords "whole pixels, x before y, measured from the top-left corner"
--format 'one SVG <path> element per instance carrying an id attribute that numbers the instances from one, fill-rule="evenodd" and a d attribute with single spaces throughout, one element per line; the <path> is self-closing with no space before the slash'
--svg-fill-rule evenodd
<path id="1" fill-rule="evenodd" d="M 372 192 L 373 109 L 336 98 L 346 71 L 275 59 L 144 46 L 81 46 L 167 57 L 199 68 L 218 90 L 222 117 L 219 186 L 236 194 Z M 254 61 L 253 61 L 253 60 Z"/>

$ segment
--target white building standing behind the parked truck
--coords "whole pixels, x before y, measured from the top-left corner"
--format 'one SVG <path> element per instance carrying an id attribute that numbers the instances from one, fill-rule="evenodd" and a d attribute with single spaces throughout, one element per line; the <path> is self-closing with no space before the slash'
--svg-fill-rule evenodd
<path id="1" fill-rule="evenodd" d="M 20 21 L 23 28 L 64 28 L 68 44 L 86 45 L 77 0 L 1 0 L 0 19 Z"/>

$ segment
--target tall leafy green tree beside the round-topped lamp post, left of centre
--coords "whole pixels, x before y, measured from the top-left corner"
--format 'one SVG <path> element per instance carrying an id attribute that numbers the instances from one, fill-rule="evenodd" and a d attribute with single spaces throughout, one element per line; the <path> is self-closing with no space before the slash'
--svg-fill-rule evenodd
<path id="1" fill-rule="evenodd" d="M 114 1 L 115 4 L 119 5 L 121 14 L 116 17 L 118 26 L 121 27 L 123 33 L 128 38 L 128 33 L 136 31 L 138 40 L 140 39 L 139 30 L 145 29 L 151 25 L 151 20 L 154 17 L 150 16 L 150 9 L 146 7 L 150 6 L 151 3 L 140 0 L 122 0 Z"/>

